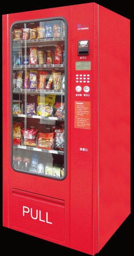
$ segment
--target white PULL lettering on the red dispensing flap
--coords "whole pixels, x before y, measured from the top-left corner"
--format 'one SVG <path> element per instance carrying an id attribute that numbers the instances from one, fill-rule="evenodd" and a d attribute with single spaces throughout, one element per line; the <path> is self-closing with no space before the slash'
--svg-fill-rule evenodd
<path id="1" fill-rule="evenodd" d="M 33 210 L 27 206 L 23 206 L 23 217 L 29 215 L 32 219 L 38 219 L 39 221 L 46 222 L 48 224 L 52 224 L 52 222 L 48 221 L 48 212 L 41 213 L 41 210 Z"/>

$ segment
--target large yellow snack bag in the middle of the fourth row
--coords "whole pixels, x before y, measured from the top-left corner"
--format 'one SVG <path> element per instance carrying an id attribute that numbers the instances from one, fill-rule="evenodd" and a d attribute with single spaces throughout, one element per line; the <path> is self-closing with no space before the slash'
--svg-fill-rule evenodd
<path id="1" fill-rule="evenodd" d="M 45 95 L 45 97 L 37 96 L 37 115 L 51 116 L 53 113 L 53 105 L 56 95 Z"/>

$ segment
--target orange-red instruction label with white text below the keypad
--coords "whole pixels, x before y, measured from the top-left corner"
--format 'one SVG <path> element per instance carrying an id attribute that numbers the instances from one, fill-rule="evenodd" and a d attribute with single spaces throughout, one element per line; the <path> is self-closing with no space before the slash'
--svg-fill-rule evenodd
<path id="1" fill-rule="evenodd" d="M 90 129 L 91 102 L 74 102 L 74 128 Z"/>

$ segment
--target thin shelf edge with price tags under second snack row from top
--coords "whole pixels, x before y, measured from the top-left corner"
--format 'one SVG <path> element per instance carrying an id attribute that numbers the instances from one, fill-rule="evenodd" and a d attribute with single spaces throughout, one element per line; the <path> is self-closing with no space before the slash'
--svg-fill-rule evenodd
<path id="1" fill-rule="evenodd" d="M 42 64 L 42 65 L 39 65 L 39 64 L 36 64 L 36 65 L 13 65 L 13 70 L 16 70 L 16 69 L 22 69 L 22 68 L 30 68 L 30 69 L 34 69 L 34 68 L 57 68 L 57 67 L 60 67 L 60 68 L 64 68 L 65 67 L 65 64 Z"/>

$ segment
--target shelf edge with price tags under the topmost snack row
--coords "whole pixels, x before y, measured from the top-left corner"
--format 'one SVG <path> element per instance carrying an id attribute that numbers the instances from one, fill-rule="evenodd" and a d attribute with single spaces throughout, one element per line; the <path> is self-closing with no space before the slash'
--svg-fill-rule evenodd
<path id="1" fill-rule="evenodd" d="M 54 43 L 54 42 L 64 42 L 65 38 L 64 37 L 52 37 L 52 38 L 42 38 L 42 39 L 27 39 L 27 40 L 14 40 L 13 39 L 13 44 L 35 44 L 38 43 L 39 45 L 44 43 Z"/>

